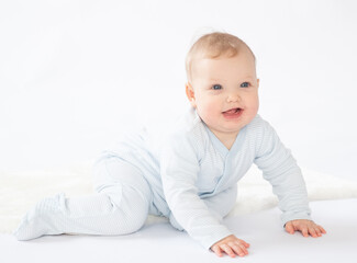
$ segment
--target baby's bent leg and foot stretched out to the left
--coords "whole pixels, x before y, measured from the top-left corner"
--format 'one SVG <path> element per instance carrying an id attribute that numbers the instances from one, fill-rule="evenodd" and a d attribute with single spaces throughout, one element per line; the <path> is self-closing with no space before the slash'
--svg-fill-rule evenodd
<path id="1" fill-rule="evenodd" d="M 44 235 L 126 235 L 138 230 L 148 215 L 152 192 L 140 170 L 119 158 L 102 158 L 94 167 L 97 194 L 44 198 L 14 231 L 18 240 Z"/>

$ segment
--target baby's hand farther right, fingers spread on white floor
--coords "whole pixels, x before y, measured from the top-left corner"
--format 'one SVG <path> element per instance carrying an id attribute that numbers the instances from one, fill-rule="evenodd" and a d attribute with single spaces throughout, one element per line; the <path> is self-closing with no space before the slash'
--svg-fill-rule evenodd
<path id="1" fill-rule="evenodd" d="M 289 233 L 294 233 L 295 231 L 300 231 L 302 236 L 305 238 L 312 236 L 313 238 L 321 237 L 322 233 L 326 233 L 325 229 L 323 227 L 316 225 L 312 220 L 306 219 L 298 219 L 298 220 L 291 220 L 286 224 L 286 231 Z"/>

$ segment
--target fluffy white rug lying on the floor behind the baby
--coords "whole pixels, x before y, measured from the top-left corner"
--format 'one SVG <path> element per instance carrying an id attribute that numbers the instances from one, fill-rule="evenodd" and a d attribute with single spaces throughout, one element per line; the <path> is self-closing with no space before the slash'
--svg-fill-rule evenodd
<path id="1" fill-rule="evenodd" d="M 0 232 L 12 232 L 22 216 L 43 197 L 66 193 L 67 197 L 93 193 L 92 163 L 88 161 L 67 168 L 41 171 L 0 171 Z M 309 199 L 357 198 L 357 181 L 348 181 L 302 169 Z M 235 208 L 228 216 L 249 214 L 278 204 L 271 186 L 253 167 L 238 182 Z M 166 220 L 149 216 L 147 222 Z"/>

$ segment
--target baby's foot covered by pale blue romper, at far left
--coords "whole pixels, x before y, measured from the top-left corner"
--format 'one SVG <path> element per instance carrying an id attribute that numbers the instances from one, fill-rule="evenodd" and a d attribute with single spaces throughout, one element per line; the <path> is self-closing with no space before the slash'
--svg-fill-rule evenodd
<path id="1" fill-rule="evenodd" d="M 40 201 L 35 207 L 27 211 L 13 235 L 18 240 L 35 239 L 44 235 L 60 235 L 56 215 L 63 214 L 65 194 Z"/>

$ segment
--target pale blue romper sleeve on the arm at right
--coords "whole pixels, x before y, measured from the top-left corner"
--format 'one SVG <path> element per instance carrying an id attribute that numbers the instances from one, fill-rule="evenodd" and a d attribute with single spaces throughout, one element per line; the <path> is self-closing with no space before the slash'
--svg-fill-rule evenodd
<path id="1" fill-rule="evenodd" d="M 264 122 L 260 145 L 254 160 L 263 176 L 272 185 L 282 211 L 282 226 L 294 219 L 310 219 L 308 192 L 300 168 L 280 141 L 275 129 Z"/>

